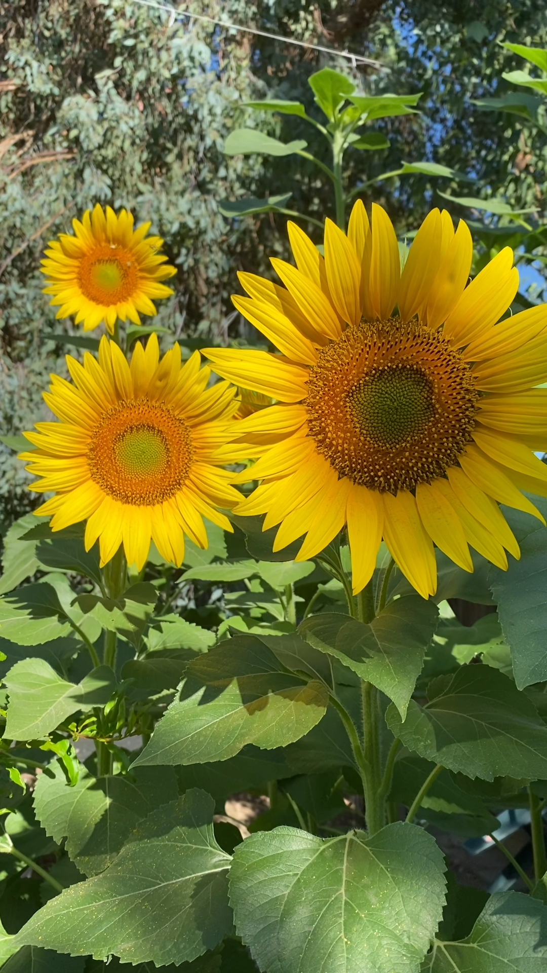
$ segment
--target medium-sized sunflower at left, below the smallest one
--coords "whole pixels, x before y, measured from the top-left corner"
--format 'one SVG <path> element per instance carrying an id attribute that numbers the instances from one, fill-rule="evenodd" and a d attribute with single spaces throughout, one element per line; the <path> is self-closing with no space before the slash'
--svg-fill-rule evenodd
<path id="1" fill-rule="evenodd" d="M 86 550 L 98 538 L 101 566 L 123 544 L 138 570 L 151 540 L 177 565 L 184 534 L 206 548 L 202 514 L 232 530 L 215 508 L 240 499 L 233 474 L 218 469 L 230 458 L 224 444 L 236 389 L 227 381 L 207 387 L 210 369 L 200 367 L 198 351 L 181 367 L 175 344 L 160 360 L 155 334 L 146 349 L 136 343 L 130 366 L 106 337 L 98 360 L 88 352 L 83 365 L 66 361 L 73 383 L 54 375 L 44 393 L 60 421 L 25 432 L 37 449 L 19 456 L 41 478 L 30 489 L 55 491 L 36 513 L 53 514 L 53 530 L 87 520 Z"/>

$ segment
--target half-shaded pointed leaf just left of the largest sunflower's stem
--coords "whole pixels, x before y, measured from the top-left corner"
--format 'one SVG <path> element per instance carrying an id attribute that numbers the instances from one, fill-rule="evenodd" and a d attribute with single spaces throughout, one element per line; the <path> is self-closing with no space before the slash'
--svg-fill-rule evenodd
<path id="1" fill-rule="evenodd" d="M 284 671 L 260 638 L 237 635 L 189 664 L 179 698 L 132 766 L 226 760 L 245 743 L 264 749 L 304 737 L 328 689 Z"/>

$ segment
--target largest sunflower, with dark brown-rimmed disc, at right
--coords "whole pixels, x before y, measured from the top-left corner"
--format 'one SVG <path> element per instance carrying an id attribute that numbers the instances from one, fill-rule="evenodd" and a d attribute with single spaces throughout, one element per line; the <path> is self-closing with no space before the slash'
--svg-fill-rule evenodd
<path id="1" fill-rule="evenodd" d="M 261 481 L 238 514 L 279 524 L 274 550 L 306 535 L 297 559 L 347 525 L 355 593 L 380 543 L 421 595 L 436 590 L 434 545 L 467 571 L 469 546 L 501 568 L 519 546 L 498 502 L 541 514 L 547 495 L 547 309 L 499 320 L 519 284 L 501 250 L 468 283 L 471 234 L 428 214 L 404 269 L 393 227 L 361 201 L 347 234 L 325 223 L 324 258 L 295 224 L 296 267 L 272 261 L 284 287 L 239 274 L 237 309 L 273 342 L 266 351 L 206 349 L 215 371 L 272 396 L 237 423 L 260 458 L 235 482 Z M 499 323 L 496 323 L 499 322 Z M 265 448 L 267 446 L 267 448 Z M 254 450 L 261 450 L 255 452 Z"/>

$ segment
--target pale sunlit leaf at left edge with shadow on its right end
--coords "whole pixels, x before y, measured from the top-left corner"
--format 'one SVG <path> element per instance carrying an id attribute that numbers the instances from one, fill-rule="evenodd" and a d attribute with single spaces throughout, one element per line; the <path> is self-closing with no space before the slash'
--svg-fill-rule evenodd
<path id="1" fill-rule="evenodd" d="M 99 666 L 75 685 L 55 672 L 44 659 L 23 659 L 12 666 L 5 680 L 9 693 L 6 736 L 40 739 L 77 709 L 108 703 L 116 677 Z"/>

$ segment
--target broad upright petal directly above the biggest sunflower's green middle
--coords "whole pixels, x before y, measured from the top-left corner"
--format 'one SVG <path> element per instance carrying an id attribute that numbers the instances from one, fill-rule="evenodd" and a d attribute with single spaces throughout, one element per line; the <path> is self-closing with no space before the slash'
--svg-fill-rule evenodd
<path id="1" fill-rule="evenodd" d="M 374 314 L 384 320 L 397 302 L 401 264 L 391 220 L 378 203 L 372 204 L 372 255 L 369 301 Z"/>

